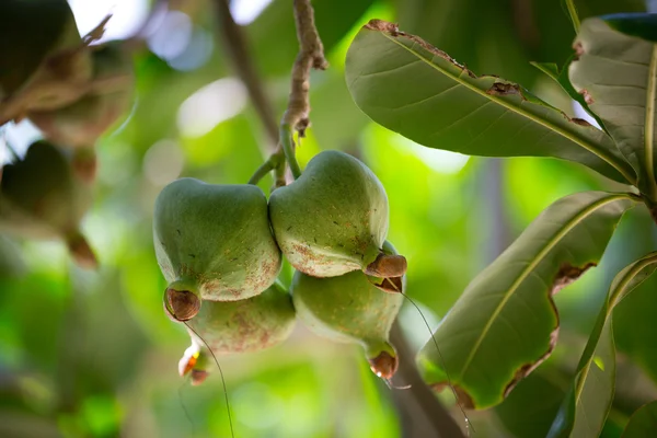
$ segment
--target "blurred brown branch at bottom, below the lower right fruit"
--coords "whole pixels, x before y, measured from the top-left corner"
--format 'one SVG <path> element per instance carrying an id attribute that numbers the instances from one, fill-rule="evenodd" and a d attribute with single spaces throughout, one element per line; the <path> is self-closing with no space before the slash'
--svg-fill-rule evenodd
<path id="1" fill-rule="evenodd" d="M 408 347 L 399 323 L 393 325 L 390 341 L 396 347 L 400 359 L 395 381 L 399 379 L 401 384 L 411 384 L 408 390 L 392 392 L 393 401 L 401 413 L 403 436 L 463 438 L 461 428 L 419 377 L 414 351 Z"/>

